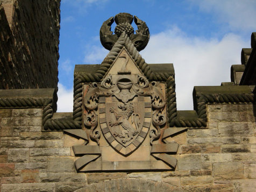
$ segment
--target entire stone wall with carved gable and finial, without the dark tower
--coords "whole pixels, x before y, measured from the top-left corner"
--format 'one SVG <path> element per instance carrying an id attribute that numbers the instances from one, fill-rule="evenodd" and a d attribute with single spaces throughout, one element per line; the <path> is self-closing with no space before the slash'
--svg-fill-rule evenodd
<path id="1" fill-rule="evenodd" d="M 1 3 L 0 14 L 8 27 Z M 52 87 L 0 90 L 2 192 L 255 191 L 256 33 L 231 82 L 195 87 L 190 111 L 176 109 L 173 65 L 139 54 L 150 39 L 145 22 L 119 13 L 99 36 L 109 53 L 76 65 L 73 112 L 56 112 Z"/>

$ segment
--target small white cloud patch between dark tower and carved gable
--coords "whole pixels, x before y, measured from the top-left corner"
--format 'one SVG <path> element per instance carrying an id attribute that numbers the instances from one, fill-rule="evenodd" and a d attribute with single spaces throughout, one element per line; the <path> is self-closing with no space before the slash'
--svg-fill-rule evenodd
<path id="1" fill-rule="evenodd" d="M 73 88 L 67 89 L 61 83 L 58 88 L 57 112 L 73 112 Z"/>

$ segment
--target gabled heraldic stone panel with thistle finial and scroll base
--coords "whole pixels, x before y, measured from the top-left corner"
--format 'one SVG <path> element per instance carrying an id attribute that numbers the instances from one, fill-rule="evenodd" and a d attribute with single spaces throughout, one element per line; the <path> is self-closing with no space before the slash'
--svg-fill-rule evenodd
<path id="1" fill-rule="evenodd" d="M 179 144 L 165 140 L 173 134 L 167 125 L 167 79 L 154 74 L 141 58 L 138 50 L 146 46 L 149 32 L 145 22 L 134 17 L 138 30 L 133 34 L 132 20 L 128 13 L 117 15 L 115 35 L 109 32 L 113 18 L 104 22 L 101 41 L 109 54 L 97 70 L 81 68 L 77 74 L 84 76 L 82 130 L 66 132 L 85 140 L 73 146 L 78 172 L 176 167 L 173 154 Z M 77 98 L 74 101 L 80 102 Z"/>

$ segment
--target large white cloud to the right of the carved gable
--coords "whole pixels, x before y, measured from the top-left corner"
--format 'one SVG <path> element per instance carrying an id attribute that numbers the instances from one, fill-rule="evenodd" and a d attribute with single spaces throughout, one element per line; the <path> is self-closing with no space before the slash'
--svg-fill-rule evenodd
<path id="1" fill-rule="evenodd" d="M 147 63 L 174 63 L 178 110 L 193 109 L 194 86 L 230 82 L 231 65 L 240 64 L 241 48 L 250 45 L 238 35 L 221 40 L 188 37 L 174 27 L 151 36 L 140 54 Z"/>

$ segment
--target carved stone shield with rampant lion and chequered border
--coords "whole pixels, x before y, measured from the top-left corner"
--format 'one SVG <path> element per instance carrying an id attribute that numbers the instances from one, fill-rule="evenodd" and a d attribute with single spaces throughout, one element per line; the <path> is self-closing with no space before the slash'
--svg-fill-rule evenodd
<path id="1" fill-rule="evenodd" d="M 105 139 L 120 154 L 131 154 L 147 136 L 151 108 L 150 97 L 134 97 L 126 104 L 115 96 L 99 97 L 99 123 Z"/>

